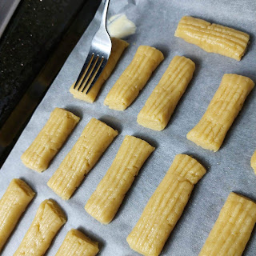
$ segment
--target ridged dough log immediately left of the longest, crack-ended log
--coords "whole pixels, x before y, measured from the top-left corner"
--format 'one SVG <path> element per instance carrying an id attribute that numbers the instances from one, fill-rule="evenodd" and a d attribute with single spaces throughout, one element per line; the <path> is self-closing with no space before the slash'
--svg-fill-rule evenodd
<path id="1" fill-rule="evenodd" d="M 126 136 L 106 175 L 86 203 L 88 214 L 108 224 L 114 218 L 126 192 L 154 147 L 140 138 Z"/>

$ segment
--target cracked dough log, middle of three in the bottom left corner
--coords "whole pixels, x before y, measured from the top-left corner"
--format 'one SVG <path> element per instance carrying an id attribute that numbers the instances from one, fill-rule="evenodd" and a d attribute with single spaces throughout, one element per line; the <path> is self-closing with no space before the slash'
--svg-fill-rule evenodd
<path id="1" fill-rule="evenodd" d="M 66 223 L 66 216 L 54 200 L 43 201 L 14 256 L 42 256 L 58 230 Z"/>

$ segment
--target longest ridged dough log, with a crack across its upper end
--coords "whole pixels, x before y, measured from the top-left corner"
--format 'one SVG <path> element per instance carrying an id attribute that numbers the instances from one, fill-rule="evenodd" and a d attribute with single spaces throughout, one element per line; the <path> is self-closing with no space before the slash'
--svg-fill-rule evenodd
<path id="1" fill-rule="evenodd" d="M 194 158 L 178 154 L 127 237 L 130 248 L 158 256 L 181 217 L 194 185 L 206 169 Z"/>

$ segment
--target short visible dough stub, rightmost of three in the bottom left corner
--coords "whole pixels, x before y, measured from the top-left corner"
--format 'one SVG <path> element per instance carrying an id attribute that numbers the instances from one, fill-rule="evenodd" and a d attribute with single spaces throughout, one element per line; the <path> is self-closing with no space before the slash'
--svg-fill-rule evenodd
<path id="1" fill-rule="evenodd" d="M 70 230 L 55 256 L 95 256 L 98 242 L 93 242 L 78 230 Z"/>

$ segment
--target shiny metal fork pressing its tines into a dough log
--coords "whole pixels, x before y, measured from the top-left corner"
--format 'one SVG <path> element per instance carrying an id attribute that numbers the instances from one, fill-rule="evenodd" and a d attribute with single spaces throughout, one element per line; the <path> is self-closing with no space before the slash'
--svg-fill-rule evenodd
<path id="1" fill-rule="evenodd" d="M 112 43 L 110 35 L 106 30 L 106 13 L 110 0 L 103 0 L 102 2 L 104 2 L 104 6 L 99 29 L 94 34 L 86 62 L 82 66 L 82 70 L 74 84 L 74 89 L 82 89 L 82 92 L 85 90 L 86 94 L 89 93 L 99 75 L 102 73 L 111 52 Z"/>

